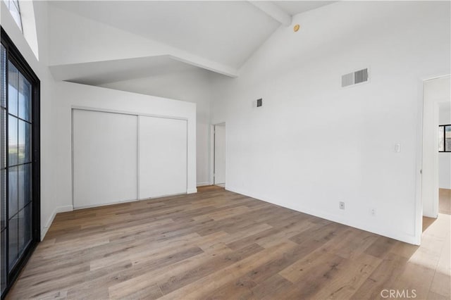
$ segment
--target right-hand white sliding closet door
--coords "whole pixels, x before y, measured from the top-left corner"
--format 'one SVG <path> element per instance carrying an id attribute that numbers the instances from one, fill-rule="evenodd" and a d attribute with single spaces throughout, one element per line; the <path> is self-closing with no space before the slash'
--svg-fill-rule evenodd
<path id="1" fill-rule="evenodd" d="M 140 199 L 187 191 L 187 121 L 140 116 Z"/>

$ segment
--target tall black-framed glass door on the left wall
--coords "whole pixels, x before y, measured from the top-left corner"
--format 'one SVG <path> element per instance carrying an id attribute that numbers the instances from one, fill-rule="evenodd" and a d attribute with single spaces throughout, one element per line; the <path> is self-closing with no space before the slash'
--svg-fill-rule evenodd
<path id="1" fill-rule="evenodd" d="M 1 29 L 1 298 L 39 242 L 39 80 Z"/>

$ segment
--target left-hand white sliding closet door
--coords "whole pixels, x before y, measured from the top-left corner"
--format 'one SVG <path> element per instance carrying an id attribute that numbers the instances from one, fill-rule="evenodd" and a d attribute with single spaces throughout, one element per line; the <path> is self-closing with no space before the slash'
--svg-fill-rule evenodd
<path id="1" fill-rule="evenodd" d="M 137 116 L 74 109 L 74 208 L 135 199 Z"/>

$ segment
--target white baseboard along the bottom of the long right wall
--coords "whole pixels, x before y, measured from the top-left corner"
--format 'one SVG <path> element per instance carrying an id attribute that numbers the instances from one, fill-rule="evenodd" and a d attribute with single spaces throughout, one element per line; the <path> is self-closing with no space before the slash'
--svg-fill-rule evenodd
<path id="1" fill-rule="evenodd" d="M 227 186 L 226 189 L 230 192 L 235 192 L 237 194 L 250 196 L 252 198 L 259 199 L 261 201 L 265 201 L 265 202 L 268 202 L 271 204 L 276 204 L 278 206 L 290 208 L 293 211 L 307 213 L 309 215 L 314 215 L 319 218 L 323 218 L 323 219 L 330 220 L 330 221 L 333 221 L 336 223 L 354 227 L 354 228 L 357 228 L 360 230 L 365 230 L 368 232 L 376 233 L 376 235 L 383 235 L 384 237 L 390 237 L 390 239 L 397 239 L 398 241 L 401 241 L 401 242 L 418 245 L 418 242 L 416 241 L 414 235 L 408 235 L 408 234 L 405 234 L 402 232 L 393 232 L 393 230 L 390 230 L 390 228 L 387 228 L 387 227 L 374 227 L 373 225 L 359 223 L 358 221 L 354 221 L 354 220 L 348 220 L 347 218 L 343 218 L 340 215 L 333 215 L 331 213 L 327 213 L 324 211 L 318 211 L 315 209 L 312 210 L 311 208 L 305 207 L 305 206 L 300 207 L 300 206 L 295 206 L 292 204 L 278 203 L 276 201 L 268 200 L 268 197 L 266 197 L 264 195 L 251 193 L 251 192 L 245 191 L 243 189 L 235 189 L 234 187 L 229 187 L 229 186 Z"/>

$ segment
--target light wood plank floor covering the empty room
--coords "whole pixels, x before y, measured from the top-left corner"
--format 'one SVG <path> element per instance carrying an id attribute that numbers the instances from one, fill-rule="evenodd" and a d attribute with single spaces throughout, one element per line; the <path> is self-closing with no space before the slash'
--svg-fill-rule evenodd
<path id="1" fill-rule="evenodd" d="M 383 289 L 450 299 L 450 215 L 413 246 L 206 187 L 58 214 L 8 298 L 381 299 Z"/>

